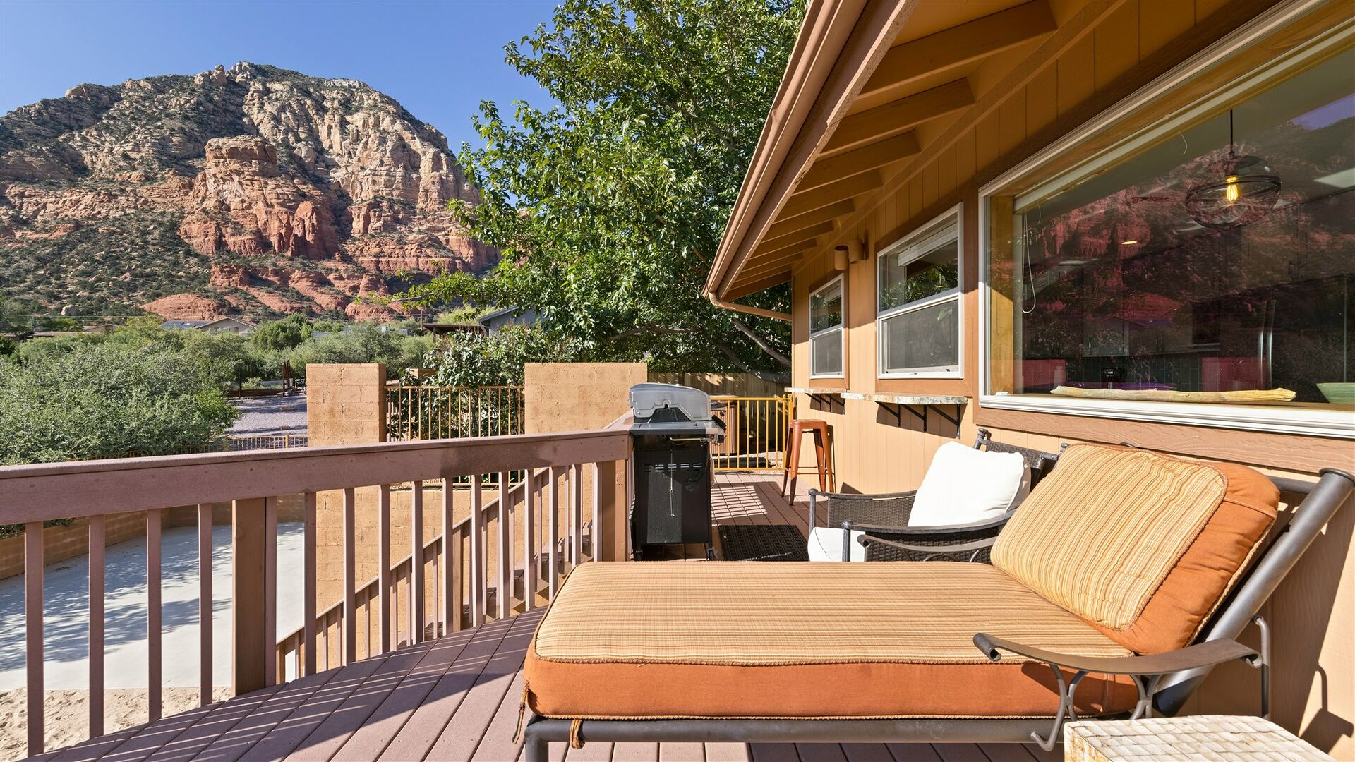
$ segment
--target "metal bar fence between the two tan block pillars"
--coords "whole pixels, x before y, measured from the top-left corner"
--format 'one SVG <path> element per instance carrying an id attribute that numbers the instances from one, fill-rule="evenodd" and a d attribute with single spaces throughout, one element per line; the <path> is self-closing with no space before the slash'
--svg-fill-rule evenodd
<path id="1" fill-rule="evenodd" d="M 392 386 L 386 439 L 459 439 L 523 433 L 522 386 Z"/>

